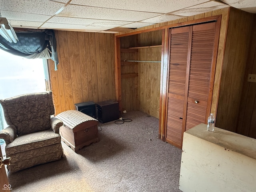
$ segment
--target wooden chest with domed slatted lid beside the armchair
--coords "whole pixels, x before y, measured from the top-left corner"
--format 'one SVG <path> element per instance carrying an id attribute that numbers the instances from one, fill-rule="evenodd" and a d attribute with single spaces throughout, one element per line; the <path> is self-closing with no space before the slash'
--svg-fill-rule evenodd
<path id="1" fill-rule="evenodd" d="M 56 117 L 64 124 L 60 127 L 61 140 L 74 152 L 99 141 L 98 120 L 77 110 L 64 111 Z"/>

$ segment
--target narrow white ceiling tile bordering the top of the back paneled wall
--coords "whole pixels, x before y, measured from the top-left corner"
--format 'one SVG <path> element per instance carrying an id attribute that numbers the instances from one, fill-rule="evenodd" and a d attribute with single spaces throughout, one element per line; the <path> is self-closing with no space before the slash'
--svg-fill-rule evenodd
<path id="1" fill-rule="evenodd" d="M 103 31 L 111 29 L 112 27 L 102 26 L 89 26 L 89 25 L 74 25 L 74 24 L 62 24 L 62 23 L 49 23 L 46 22 L 41 28 L 48 29 L 72 29 L 72 30 L 96 30 Z"/>

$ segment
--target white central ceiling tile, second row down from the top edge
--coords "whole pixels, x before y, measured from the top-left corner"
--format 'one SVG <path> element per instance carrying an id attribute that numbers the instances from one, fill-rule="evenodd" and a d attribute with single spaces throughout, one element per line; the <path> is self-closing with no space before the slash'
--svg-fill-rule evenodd
<path id="1" fill-rule="evenodd" d="M 58 14 L 58 16 L 63 16 L 63 17 L 133 21 L 133 22 L 155 17 L 158 15 L 160 14 L 109 9 L 109 8 L 78 6 L 78 5 L 68 5 L 62 12 L 60 12 L 60 14 Z"/>

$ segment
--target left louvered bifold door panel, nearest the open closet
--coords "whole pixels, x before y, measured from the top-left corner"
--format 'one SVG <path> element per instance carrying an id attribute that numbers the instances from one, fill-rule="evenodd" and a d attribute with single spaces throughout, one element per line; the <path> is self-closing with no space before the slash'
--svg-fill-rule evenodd
<path id="1" fill-rule="evenodd" d="M 179 148 L 182 139 L 188 38 L 189 27 L 174 28 L 170 31 L 166 141 Z"/>

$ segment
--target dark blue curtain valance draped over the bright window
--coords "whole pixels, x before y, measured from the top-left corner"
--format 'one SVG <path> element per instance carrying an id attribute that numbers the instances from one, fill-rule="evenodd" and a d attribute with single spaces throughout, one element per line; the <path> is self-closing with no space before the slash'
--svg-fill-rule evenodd
<path id="1" fill-rule="evenodd" d="M 10 43 L 0 36 L 0 49 L 26 58 L 51 58 L 57 70 L 59 61 L 53 30 L 16 32 L 16 35 L 17 43 Z"/>

